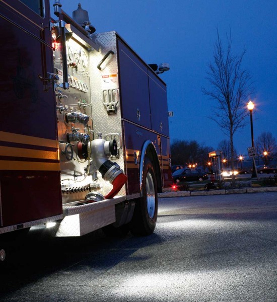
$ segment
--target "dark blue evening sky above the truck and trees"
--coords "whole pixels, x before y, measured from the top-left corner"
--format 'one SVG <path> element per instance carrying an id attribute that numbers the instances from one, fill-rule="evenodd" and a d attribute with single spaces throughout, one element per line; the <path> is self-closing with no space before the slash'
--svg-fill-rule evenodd
<path id="1" fill-rule="evenodd" d="M 195 139 L 217 148 L 229 139 L 207 118 L 214 101 L 201 88 L 209 88 L 205 76 L 217 28 L 223 42 L 231 30 L 233 53 L 246 48 L 243 67 L 255 82 L 254 138 L 270 131 L 277 139 L 276 0 L 61 0 L 62 9 L 72 16 L 79 2 L 96 32 L 116 31 L 147 63 L 170 64 L 160 76 L 167 83 L 168 110 L 174 112 L 172 141 Z M 247 154 L 250 124 L 235 133 L 234 144 L 239 154 Z"/>

